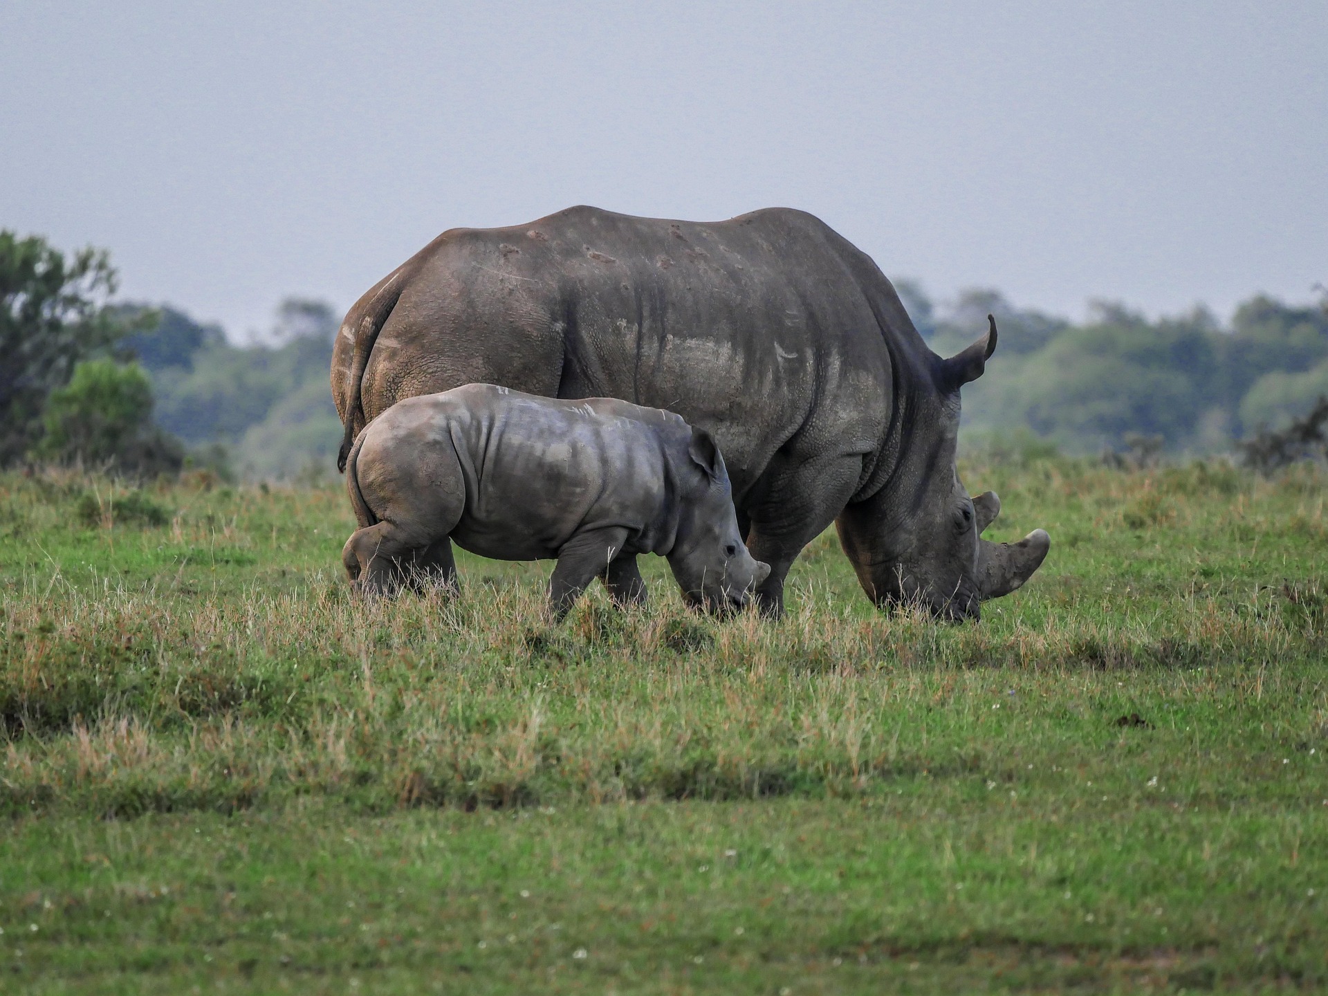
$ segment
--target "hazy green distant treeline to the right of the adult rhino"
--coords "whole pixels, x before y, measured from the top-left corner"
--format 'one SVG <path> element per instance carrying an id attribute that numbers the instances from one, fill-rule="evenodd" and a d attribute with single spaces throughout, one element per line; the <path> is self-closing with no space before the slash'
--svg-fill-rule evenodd
<path id="1" fill-rule="evenodd" d="M 1074 324 L 1015 308 L 996 291 L 967 291 L 938 309 L 916 284 L 896 287 L 918 331 L 943 355 L 996 316 L 1000 345 L 964 388 L 964 429 L 1024 429 L 1069 452 L 1123 449 L 1159 436 L 1171 453 L 1231 450 L 1262 425 L 1283 425 L 1328 394 L 1328 297 L 1289 307 L 1263 295 L 1220 323 L 1203 308 L 1149 321 L 1097 303 Z"/>

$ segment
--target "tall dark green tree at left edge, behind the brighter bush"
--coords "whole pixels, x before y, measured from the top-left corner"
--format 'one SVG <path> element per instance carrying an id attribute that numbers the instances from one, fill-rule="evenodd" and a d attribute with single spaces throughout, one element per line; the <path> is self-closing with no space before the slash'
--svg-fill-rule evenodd
<path id="1" fill-rule="evenodd" d="M 104 250 L 70 256 L 0 230 L 0 466 L 40 437 L 46 396 L 131 325 L 108 307 L 116 271 Z"/>

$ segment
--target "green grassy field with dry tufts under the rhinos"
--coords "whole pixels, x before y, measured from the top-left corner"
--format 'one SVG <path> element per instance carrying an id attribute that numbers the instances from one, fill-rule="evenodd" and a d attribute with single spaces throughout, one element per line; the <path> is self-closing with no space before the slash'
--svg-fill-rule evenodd
<path id="1" fill-rule="evenodd" d="M 1324 475 L 963 475 L 1053 546 L 959 627 L 833 535 L 778 624 L 551 625 L 352 600 L 339 490 L 0 478 L 0 987 L 1328 987 Z"/>

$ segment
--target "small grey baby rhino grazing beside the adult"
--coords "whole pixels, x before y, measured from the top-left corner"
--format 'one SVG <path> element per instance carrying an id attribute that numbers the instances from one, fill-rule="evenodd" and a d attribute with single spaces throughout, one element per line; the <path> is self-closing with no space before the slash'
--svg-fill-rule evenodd
<path id="1" fill-rule="evenodd" d="M 742 543 L 714 441 L 672 412 L 467 384 L 389 408 L 345 471 L 361 529 L 341 559 L 364 592 L 421 574 L 456 583 L 452 539 L 498 560 L 556 558 L 558 618 L 596 576 L 618 604 L 643 602 L 637 554 L 667 556 L 710 611 L 741 607 L 770 572 Z"/>

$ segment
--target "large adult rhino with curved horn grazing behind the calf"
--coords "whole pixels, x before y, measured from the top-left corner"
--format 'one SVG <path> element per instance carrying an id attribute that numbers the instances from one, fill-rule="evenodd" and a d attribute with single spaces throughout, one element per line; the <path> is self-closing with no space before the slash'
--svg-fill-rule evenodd
<path id="1" fill-rule="evenodd" d="M 979 616 L 1050 546 L 983 540 L 1000 502 L 955 471 L 959 389 L 996 348 L 927 348 L 890 280 L 819 219 L 769 208 L 726 222 L 571 207 L 509 228 L 453 228 L 345 317 L 332 394 L 339 466 L 396 401 L 489 382 L 677 412 L 718 442 L 762 611 L 834 522 L 876 604 Z"/>

